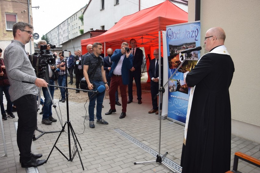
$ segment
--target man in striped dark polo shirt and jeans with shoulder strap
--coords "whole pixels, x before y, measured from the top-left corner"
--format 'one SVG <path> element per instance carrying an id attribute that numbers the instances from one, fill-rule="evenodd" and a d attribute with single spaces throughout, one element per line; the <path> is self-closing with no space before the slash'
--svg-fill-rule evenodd
<path id="1" fill-rule="evenodd" d="M 100 56 L 102 53 L 102 44 L 101 43 L 94 43 L 92 45 L 93 53 L 86 55 L 84 58 L 84 68 L 83 73 L 84 77 L 86 79 L 86 82 L 88 84 L 88 88 L 93 91 L 97 91 L 97 88 L 101 85 L 105 86 L 107 90 L 109 89 L 107 85 L 107 79 L 106 74 L 104 71 L 104 61 L 103 57 Z M 101 63 L 96 68 L 96 71 L 93 71 L 93 69 L 96 67 L 96 65 L 101 61 Z M 91 73 L 93 71 L 93 73 Z M 95 87 L 93 88 L 93 84 Z M 105 91 L 99 92 L 98 94 L 91 97 L 94 93 L 90 92 L 90 100 L 89 100 L 89 106 L 88 106 L 88 114 L 89 114 L 89 127 L 95 128 L 94 124 L 94 108 L 97 101 L 96 106 L 96 116 L 97 116 L 97 124 L 108 124 L 104 119 L 102 119 L 101 112 L 102 112 L 102 104 L 103 99 L 105 96 Z"/>

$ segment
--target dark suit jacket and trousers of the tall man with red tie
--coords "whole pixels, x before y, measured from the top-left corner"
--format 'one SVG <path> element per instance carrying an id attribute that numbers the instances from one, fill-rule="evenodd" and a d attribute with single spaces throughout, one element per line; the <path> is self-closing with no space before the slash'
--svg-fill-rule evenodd
<path id="1" fill-rule="evenodd" d="M 135 85 L 137 90 L 137 99 L 142 99 L 142 88 L 141 88 L 141 66 L 143 64 L 143 50 L 135 48 L 135 56 L 133 58 L 133 67 L 135 71 L 129 70 L 129 84 L 128 84 L 128 99 L 133 100 L 133 80 L 135 78 Z M 132 51 L 132 49 L 131 49 Z"/>

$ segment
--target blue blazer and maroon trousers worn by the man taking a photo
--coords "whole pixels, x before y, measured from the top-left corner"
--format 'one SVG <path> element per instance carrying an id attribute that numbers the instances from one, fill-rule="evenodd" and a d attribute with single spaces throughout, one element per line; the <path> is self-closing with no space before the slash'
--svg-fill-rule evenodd
<path id="1" fill-rule="evenodd" d="M 119 60 L 121 59 L 121 49 L 116 49 L 114 54 L 111 56 L 111 61 L 113 64 L 111 66 L 109 77 L 111 77 L 111 83 L 109 88 L 109 100 L 110 100 L 110 109 L 114 110 L 115 108 L 115 92 L 119 86 L 122 100 L 122 112 L 126 112 L 127 106 L 127 94 L 126 94 L 126 86 L 129 83 L 129 69 L 133 67 L 133 55 L 130 54 L 128 58 L 124 54 L 122 57 L 122 67 L 121 67 L 121 75 L 114 75 L 113 71 L 117 67 Z"/>

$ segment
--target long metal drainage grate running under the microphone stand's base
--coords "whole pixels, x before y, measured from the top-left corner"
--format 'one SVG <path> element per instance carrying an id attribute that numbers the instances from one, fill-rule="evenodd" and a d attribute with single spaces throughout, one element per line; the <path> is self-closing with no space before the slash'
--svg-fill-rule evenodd
<path id="1" fill-rule="evenodd" d="M 127 133 L 123 132 L 120 129 L 114 129 L 114 130 L 117 133 L 121 134 L 126 139 L 130 140 L 132 143 L 134 143 L 138 147 L 142 148 L 144 151 L 148 152 L 149 154 L 153 155 L 154 157 L 157 156 L 157 154 L 158 154 L 157 151 L 154 151 L 153 149 L 151 149 L 150 147 L 146 146 L 145 144 L 143 144 L 139 140 L 136 140 L 135 138 L 131 137 L 130 135 L 128 135 Z M 161 156 L 163 156 L 163 155 L 161 155 Z M 176 171 L 178 171 L 180 173 L 182 172 L 182 167 L 180 165 L 176 164 L 175 162 L 171 161 L 167 157 L 163 157 L 162 162 L 164 164 L 167 164 L 169 167 L 173 168 L 174 170 L 176 170 Z"/>

